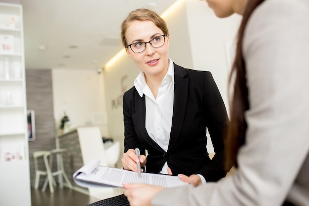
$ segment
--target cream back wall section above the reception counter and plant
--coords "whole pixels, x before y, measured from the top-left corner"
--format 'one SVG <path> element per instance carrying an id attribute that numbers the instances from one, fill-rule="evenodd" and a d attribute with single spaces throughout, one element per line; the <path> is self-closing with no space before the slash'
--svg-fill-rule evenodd
<path id="1" fill-rule="evenodd" d="M 96 70 L 53 69 L 54 117 L 57 128 L 64 111 L 71 128 L 86 122 L 98 124 L 103 136 L 108 136 L 104 74 Z"/>

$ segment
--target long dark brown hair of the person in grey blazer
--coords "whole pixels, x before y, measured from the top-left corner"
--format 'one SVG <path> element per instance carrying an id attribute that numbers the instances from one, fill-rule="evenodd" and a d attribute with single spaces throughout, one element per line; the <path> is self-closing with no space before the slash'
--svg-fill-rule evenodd
<path id="1" fill-rule="evenodd" d="M 249 109 L 248 87 L 246 85 L 246 64 L 242 55 L 242 41 L 245 27 L 254 9 L 264 0 L 248 0 L 243 18 L 238 30 L 238 40 L 236 45 L 236 54 L 230 74 L 229 85 L 233 85 L 233 97 L 230 108 L 230 124 L 226 138 L 227 153 L 226 167 L 237 166 L 236 156 L 238 149 L 245 143 L 245 132 L 247 123 L 244 119 L 244 113 Z"/>

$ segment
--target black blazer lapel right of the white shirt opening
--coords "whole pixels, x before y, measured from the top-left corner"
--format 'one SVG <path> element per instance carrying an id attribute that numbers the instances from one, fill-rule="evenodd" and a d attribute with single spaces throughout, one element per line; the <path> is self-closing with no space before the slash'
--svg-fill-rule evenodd
<path id="1" fill-rule="evenodd" d="M 184 123 L 189 86 L 189 79 L 185 79 L 185 76 L 187 75 L 185 69 L 177 64 L 174 64 L 174 71 L 174 110 L 168 150 L 175 145 Z"/>

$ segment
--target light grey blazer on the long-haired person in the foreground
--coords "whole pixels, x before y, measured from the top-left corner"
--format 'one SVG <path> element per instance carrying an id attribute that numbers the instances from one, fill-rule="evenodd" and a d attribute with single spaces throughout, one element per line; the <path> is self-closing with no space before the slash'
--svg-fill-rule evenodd
<path id="1" fill-rule="evenodd" d="M 250 108 L 238 169 L 158 193 L 153 206 L 309 206 L 309 0 L 265 0 L 243 44 Z"/>

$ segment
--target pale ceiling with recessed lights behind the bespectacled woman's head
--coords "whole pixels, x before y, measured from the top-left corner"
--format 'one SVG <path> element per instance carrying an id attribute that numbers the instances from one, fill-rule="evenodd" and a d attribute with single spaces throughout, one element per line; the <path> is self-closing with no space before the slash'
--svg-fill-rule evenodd
<path id="1" fill-rule="evenodd" d="M 146 7 L 161 14 L 176 0 L 20 0 L 26 69 L 101 69 L 122 48 L 120 25 Z"/>

